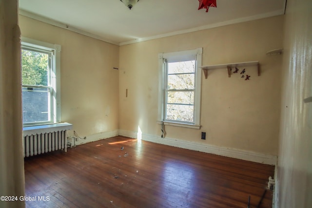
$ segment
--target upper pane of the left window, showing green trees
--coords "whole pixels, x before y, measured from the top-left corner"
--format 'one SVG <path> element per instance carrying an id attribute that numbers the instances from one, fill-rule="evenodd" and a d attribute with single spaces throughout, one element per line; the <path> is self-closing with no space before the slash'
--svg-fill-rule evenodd
<path id="1" fill-rule="evenodd" d="M 22 49 L 21 65 L 23 85 L 48 86 L 48 54 Z"/>

